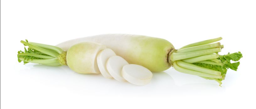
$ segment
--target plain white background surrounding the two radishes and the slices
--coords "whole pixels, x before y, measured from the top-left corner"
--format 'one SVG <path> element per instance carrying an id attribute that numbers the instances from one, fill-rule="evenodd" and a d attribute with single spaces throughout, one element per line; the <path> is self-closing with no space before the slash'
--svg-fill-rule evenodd
<path id="1" fill-rule="evenodd" d="M 17 61 L 20 40 L 56 45 L 106 33 L 164 38 L 176 49 L 221 36 L 220 54 L 244 57 L 222 87 L 172 68 L 136 86 Z M 255 108 L 255 36 L 254 0 L 1 0 L 1 109 Z"/>

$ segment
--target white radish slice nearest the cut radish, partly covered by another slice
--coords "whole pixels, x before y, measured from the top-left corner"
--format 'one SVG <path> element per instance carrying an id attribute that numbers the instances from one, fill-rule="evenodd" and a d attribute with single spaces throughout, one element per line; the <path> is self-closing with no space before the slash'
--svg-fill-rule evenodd
<path id="1" fill-rule="evenodd" d="M 105 78 L 112 78 L 112 76 L 109 74 L 109 71 L 106 68 L 107 60 L 111 56 L 115 56 L 115 52 L 109 48 L 100 51 L 97 55 L 99 71 Z"/>

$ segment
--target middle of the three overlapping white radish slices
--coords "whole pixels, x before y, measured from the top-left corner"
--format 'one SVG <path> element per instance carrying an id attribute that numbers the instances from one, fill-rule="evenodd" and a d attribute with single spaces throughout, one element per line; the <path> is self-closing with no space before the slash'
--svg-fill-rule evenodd
<path id="1" fill-rule="evenodd" d="M 115 78 L 117 81 L 125 82 L 125 78 L 121 75 L 121 70 L 124 65 L 129 64 L 125 59 L 120 56 L 111 56 L 106 64 L 107 70 L 110 75 Z"/>

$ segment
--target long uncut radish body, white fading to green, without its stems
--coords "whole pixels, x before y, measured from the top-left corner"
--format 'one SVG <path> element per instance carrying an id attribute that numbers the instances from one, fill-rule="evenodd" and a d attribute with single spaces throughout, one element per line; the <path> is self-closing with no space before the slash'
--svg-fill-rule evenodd
<path id="1" fill-rule="evenodd" d="M 106 45 L 130 64 L 138 64 L 152 72 L 169 69 L 168 54 L 173 45 L 164 39 L 130 34 L 104 34 L 68 40 L 56 46 L 67 50 L 80 42 L 97 42 Z"/>

